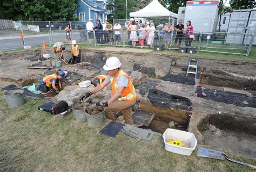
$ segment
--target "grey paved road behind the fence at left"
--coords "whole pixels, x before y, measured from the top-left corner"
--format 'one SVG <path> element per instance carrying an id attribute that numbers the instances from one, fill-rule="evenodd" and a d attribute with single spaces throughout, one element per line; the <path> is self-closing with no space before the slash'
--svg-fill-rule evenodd
<path id="1" fill-rule="evenodd" d="M 72 39 L 79 40 L 79 33 L 72 35 Z M 52 34 L 51 42 L 48 34 L 37 34 L 37 35 L 24 35 L 24 42 L 26 46 L 38 46 L 43 45 L 43 41 L 47 45 L 53 44 L 53 42 L 66 42 L 65 33 Z M 0 51 L 6 51 L 10 49 L 23 48 L 23 42 L 20 37 L 0 37 Z"/>

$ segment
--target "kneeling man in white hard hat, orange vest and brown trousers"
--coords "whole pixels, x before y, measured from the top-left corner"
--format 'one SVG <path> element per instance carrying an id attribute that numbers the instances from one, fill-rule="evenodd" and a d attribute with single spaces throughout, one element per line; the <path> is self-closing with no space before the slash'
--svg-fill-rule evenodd
<path id="1" fill-rule="evenodd" d="M 86 94 L 80 96 L 79 99 L 83 101 L 85 98 L 102 90 L 111 82 L 112 97 L 107 102 L 98 102 L 96 105 L 106 107 L 106 117 L 111 120 L 116 120 L 116 117 L 114 117 L 116 112 L 123 111 L 125 122 L 132 125 L 132 106 L 136 103 L 137 94 L 130 77 L 120 68 L 121 65 L 116 57 L 107 59 L 103 67 L 107 73 L 104 82 L 91 92 L 86 92 Z"/>

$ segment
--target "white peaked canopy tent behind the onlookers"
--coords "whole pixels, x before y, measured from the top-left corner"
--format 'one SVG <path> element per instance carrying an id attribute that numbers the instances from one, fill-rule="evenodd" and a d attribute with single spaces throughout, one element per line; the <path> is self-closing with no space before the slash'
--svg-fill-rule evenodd
<path id="1" fill-rule="evenodd" d="M 171 17 L 178 18 L 178 14 L 173 13 L 163 5 L 161 5 L 158 0 L 153 0 L 149 5 L 145 6 L 145 8 L 136 11 L 130 12 L 130 17 Z"/>

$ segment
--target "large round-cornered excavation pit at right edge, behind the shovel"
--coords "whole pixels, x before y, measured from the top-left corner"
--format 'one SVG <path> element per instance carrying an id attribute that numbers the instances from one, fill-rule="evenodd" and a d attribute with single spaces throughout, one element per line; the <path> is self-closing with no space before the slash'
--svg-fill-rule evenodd
<path id="1" fill-rule="evenodd" d="M 256 157 L 256 120 L 232 114 L 209 114 L 201 120 L 198 130 L 208 146 L 230 149 L 232 152 Z"/>

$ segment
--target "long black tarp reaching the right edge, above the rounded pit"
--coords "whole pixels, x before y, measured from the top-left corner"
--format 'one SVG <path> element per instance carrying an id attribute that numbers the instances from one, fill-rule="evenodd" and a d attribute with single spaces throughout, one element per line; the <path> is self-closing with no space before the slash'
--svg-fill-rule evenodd
<path id="1" fill-rule="evenodd" d="M 256 107 L 256 97 L 247 97 L 245 94 L 236 92 L 208 89 L 204 87 L 206 97 L 202 96 L 202 89 L 200 86 L 197 87 L 197 96 L 201 98 L 211 99 L 216 102 L 223 102 L 227 104 L 234 104 L 241 107 Z M 214 93 L 215 92 L 215 93 Z M 248 104 L 242 102 L 246 101 Z"/>

